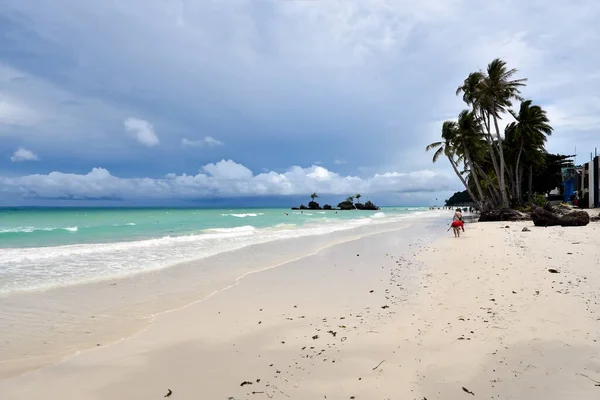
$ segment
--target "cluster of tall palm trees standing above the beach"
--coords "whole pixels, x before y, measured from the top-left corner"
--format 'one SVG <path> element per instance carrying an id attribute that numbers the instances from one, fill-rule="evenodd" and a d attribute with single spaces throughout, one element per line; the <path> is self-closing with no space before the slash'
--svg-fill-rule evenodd
<path id="1" fill-rule="evenodd" d="M 436 149 L 433 162 L 446 156 L 480 210 L 522 204 L 525 171 L 532 196 L 533 170 L 543 165 L 552 134 L 546 112 L 521 97 L 527 79 L 514 79 L 516 73 L 496 59 L 485 71 L 469 74 L 456 90 L 469 108 L 456 121 L 445 121 L 442 140 L 426 148 Z M 510 108 L 515 100 L 521 102 L 518 111 Z M 506 116 L 514 121 L 501 132 L 499 121 Z"/>

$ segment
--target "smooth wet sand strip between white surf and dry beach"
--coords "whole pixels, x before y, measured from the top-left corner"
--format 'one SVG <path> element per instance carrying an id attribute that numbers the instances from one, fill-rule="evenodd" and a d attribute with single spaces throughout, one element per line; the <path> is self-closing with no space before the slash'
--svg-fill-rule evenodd
<path id="1" fill-rule="evenodd" d="M 428 213 L 426 217 L 328 235 L 258 243 L 160 270 L 13 293 L 2 299 L 5 311 L 0 333 L 11 345 L 1 357 L 0 379 L 62 362 L 97 345 L 129 339 L 148 329 L 157 316 L 206 301 L 248 275 L 293 263 L 331 246 L 437 218 L 437 214 Z M 323 238 L 325 243 L 319 240 Z M 240 258 L 244 259 L 243 267 L 231 268 Z M 211 271 L 206 272 L 209 267 Z M 23 321 L 22 315 L 29 318 Z"/>

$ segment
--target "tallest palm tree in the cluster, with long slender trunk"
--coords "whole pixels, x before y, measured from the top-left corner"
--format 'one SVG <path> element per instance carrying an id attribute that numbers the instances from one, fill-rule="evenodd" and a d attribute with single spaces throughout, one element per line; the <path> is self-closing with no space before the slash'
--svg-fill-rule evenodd
<path id="1" fill-rule="evenodd" d="M 502 136 L 498 126 L 498 119 L 505 113 L 507 108 L 512 105 L 512 100 L 522 100 L 520 96 L 520 87 L 525 86 L 527 79 L 512 79 L 517 73 L 516 69 L 507 69 L 506 62 L 495 59 L 488 64 L 487 73 L 477 85 L 474 99 L 478 108 L 483 112 L 484 118 L 487 117 L 489 128 L 489 118 L 494 121 L 496 131 L 496 140 L 498 141 L 498 155 L 500 165 L 498 166 L 498 184 L 502 195 L 502 206 L 508 207 L 508 197 L 504 180 L 504 170 L 506 163 L 504 160 L 504 150 L 502 146 Z"/>

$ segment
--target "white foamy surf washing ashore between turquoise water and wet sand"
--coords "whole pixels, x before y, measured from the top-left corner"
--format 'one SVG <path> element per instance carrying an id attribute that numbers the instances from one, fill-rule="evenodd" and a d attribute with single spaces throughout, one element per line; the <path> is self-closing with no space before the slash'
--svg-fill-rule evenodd
<path id="1" fill-rule="evenodd" d="M 263 226 L 263 222 L 244 219 L 243 222 L 247 222 L 245 225 L 212 227 L 193 233 L 165 231 L 162 235 L 153 237 L 132 236 L 123 239 L 117 236 L 117 239 L 113 241 L 104 241 L 107 239 L 104 237 L 104 240 L 99 242 L 83 241 L 30 248 L 22 246 L 7 248 L 2 262 L 7 263 L 9 268 L 0 271 L 5 279 L 3 283 L 0 283 L 0 299 L 19 292 L 52 290 L 55 287 L 152 273 L 180 264 L 210 259 L 219 254 L 241 250 L 248 246 L 282 239 L 336 235 L 338 232 L 371 225 L 402 222 L 422 214 L 426 214 L 426 211 L 391 213 L 389 215 L 374 213 L 368 217 L 350 219 L 328 220 L 325 218 L 325 222 L 318 218 L 310 220 L 312 217 L 308 216 L 312 214 L 306 214 L 309 220 L 296 221 L 281 217 L 281 223 L 267 226 Z M 221 217 L 225 215 L 238 214 L 221 214 Z M 259 215 L 262 216 L 263 213 Z M 239 216 L 240 218 L 256 217 L 257 214 L 239 214 Z M 292 217 L 290 216 L 290 218 Z M 129 224 L 113 224 L 112 226 Z M 131 224 L 136 225 L 135 223 Z M 39 228 L 34 231 L 51 234 L 53 230 L 64 229 Z M 60 266 L 60 268 L 56 268 L 56 270 L 47 268 L 46 263 L 52 263 L 53 266 Z M 86 265 L 86 268 L 80 269 L 79 265 Z M 44 271 L 43 274 L 42 271 Z M 11 284 L 11 282 L 20 283 Z"/>

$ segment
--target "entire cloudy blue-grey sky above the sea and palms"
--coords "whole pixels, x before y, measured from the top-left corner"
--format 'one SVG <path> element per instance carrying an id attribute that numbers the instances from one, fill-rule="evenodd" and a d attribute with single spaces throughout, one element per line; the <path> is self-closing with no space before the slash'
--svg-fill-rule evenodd
<path id="1" fill-rule="evenodd" d="M 593 0 L 0 0 L 0 205 L 441 203 L 462 187 L 424 148 L 494 58 L 583 162 L 599 20 Z"/>

